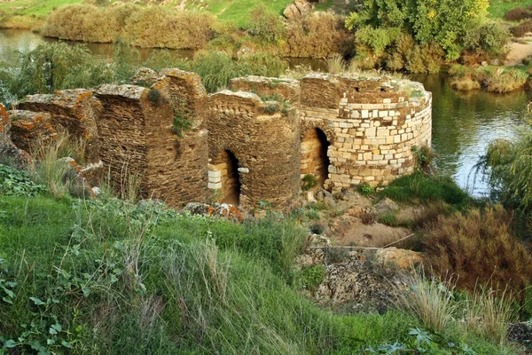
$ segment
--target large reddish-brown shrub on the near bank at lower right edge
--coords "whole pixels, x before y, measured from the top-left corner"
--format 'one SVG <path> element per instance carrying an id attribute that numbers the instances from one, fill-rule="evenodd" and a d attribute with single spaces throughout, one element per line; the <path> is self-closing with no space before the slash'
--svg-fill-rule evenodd
<path id="1" fill-rule="evenodd" d="M 489 284 L 499 296 L 505 288 L 516 295 L 532 281 L 532 256 L 513 237 L 512 215 L 501 206 L 438 217 L 422 244 L 433 272 L 454 275 L 458 288 Z"/>

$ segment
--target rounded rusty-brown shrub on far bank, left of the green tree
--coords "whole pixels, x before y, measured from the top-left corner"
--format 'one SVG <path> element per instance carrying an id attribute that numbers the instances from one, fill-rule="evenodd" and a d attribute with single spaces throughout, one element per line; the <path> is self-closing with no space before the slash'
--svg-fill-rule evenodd
<path id="1" fill-rule="evenodd" d="M 329 58 L 348 53 L 350 37 L 340 16 L 310 12 L 288 22 L 281 51 L 286 57 Z"/>

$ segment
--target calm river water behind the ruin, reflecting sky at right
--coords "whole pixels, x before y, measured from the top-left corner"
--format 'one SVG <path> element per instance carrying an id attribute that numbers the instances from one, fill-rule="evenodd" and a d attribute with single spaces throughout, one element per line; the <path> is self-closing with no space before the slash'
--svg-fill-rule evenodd
<path id="1" fill-rule="evenodd" d="M 31 51 L 40 43 L 53 41 L 29 31 L 0 30 L 0 61 L 15 63 L 19 51 Z M 113 55 L 111 44 L 88 43 L 87 46 L 94 54 Z M 146 59 L 154 50 L 139 51 Z M 179 51 L 179 55 L 191 57 L 192 51 Z M 301 59 L 291 60 L 291 65 L 294 64 L 320 67 L 319 62 Z M 512 138 L 525 124 L 527 104 L 532 101 L 532 95 L 526 91 L 509 94 L 453 91 L 445 75 L 412 75 L 411 78 L 433 92 L 433 147 L 439 154 L 435 162 L 438 170 L 453 177 L 458 185 L 474 195 L 485 193 L 486 185 L 481 177 L 473 180 L 473 166 L 491 140 Z"/>

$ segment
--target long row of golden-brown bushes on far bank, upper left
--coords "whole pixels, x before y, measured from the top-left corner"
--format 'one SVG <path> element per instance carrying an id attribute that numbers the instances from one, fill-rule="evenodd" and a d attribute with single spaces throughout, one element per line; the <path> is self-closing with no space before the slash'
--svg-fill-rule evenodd
<path id="1" fill-rule="evenodd" d="M 50 14 L 43 36 L 99 43 L 124 37 L 140 47 L 199 49 L 212 38 L 213 23 L 214 18 L 207 13 L 177 12 L 160 6 L 73 4 Z"/>

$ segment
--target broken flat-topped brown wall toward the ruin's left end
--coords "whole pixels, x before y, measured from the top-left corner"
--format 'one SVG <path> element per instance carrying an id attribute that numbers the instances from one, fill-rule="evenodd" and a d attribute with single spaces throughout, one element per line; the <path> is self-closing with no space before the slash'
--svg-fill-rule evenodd
<path id="1" fill-rule="evenodd" d="M 92 91 L 74 89 L 47 95 L 30 95 L 18 106 L 21 110 L 50 114 L 55 130 L 66 130 L 85 141 L 85 160 L 99 161 L 97 121 L 102 106 Z"/>

